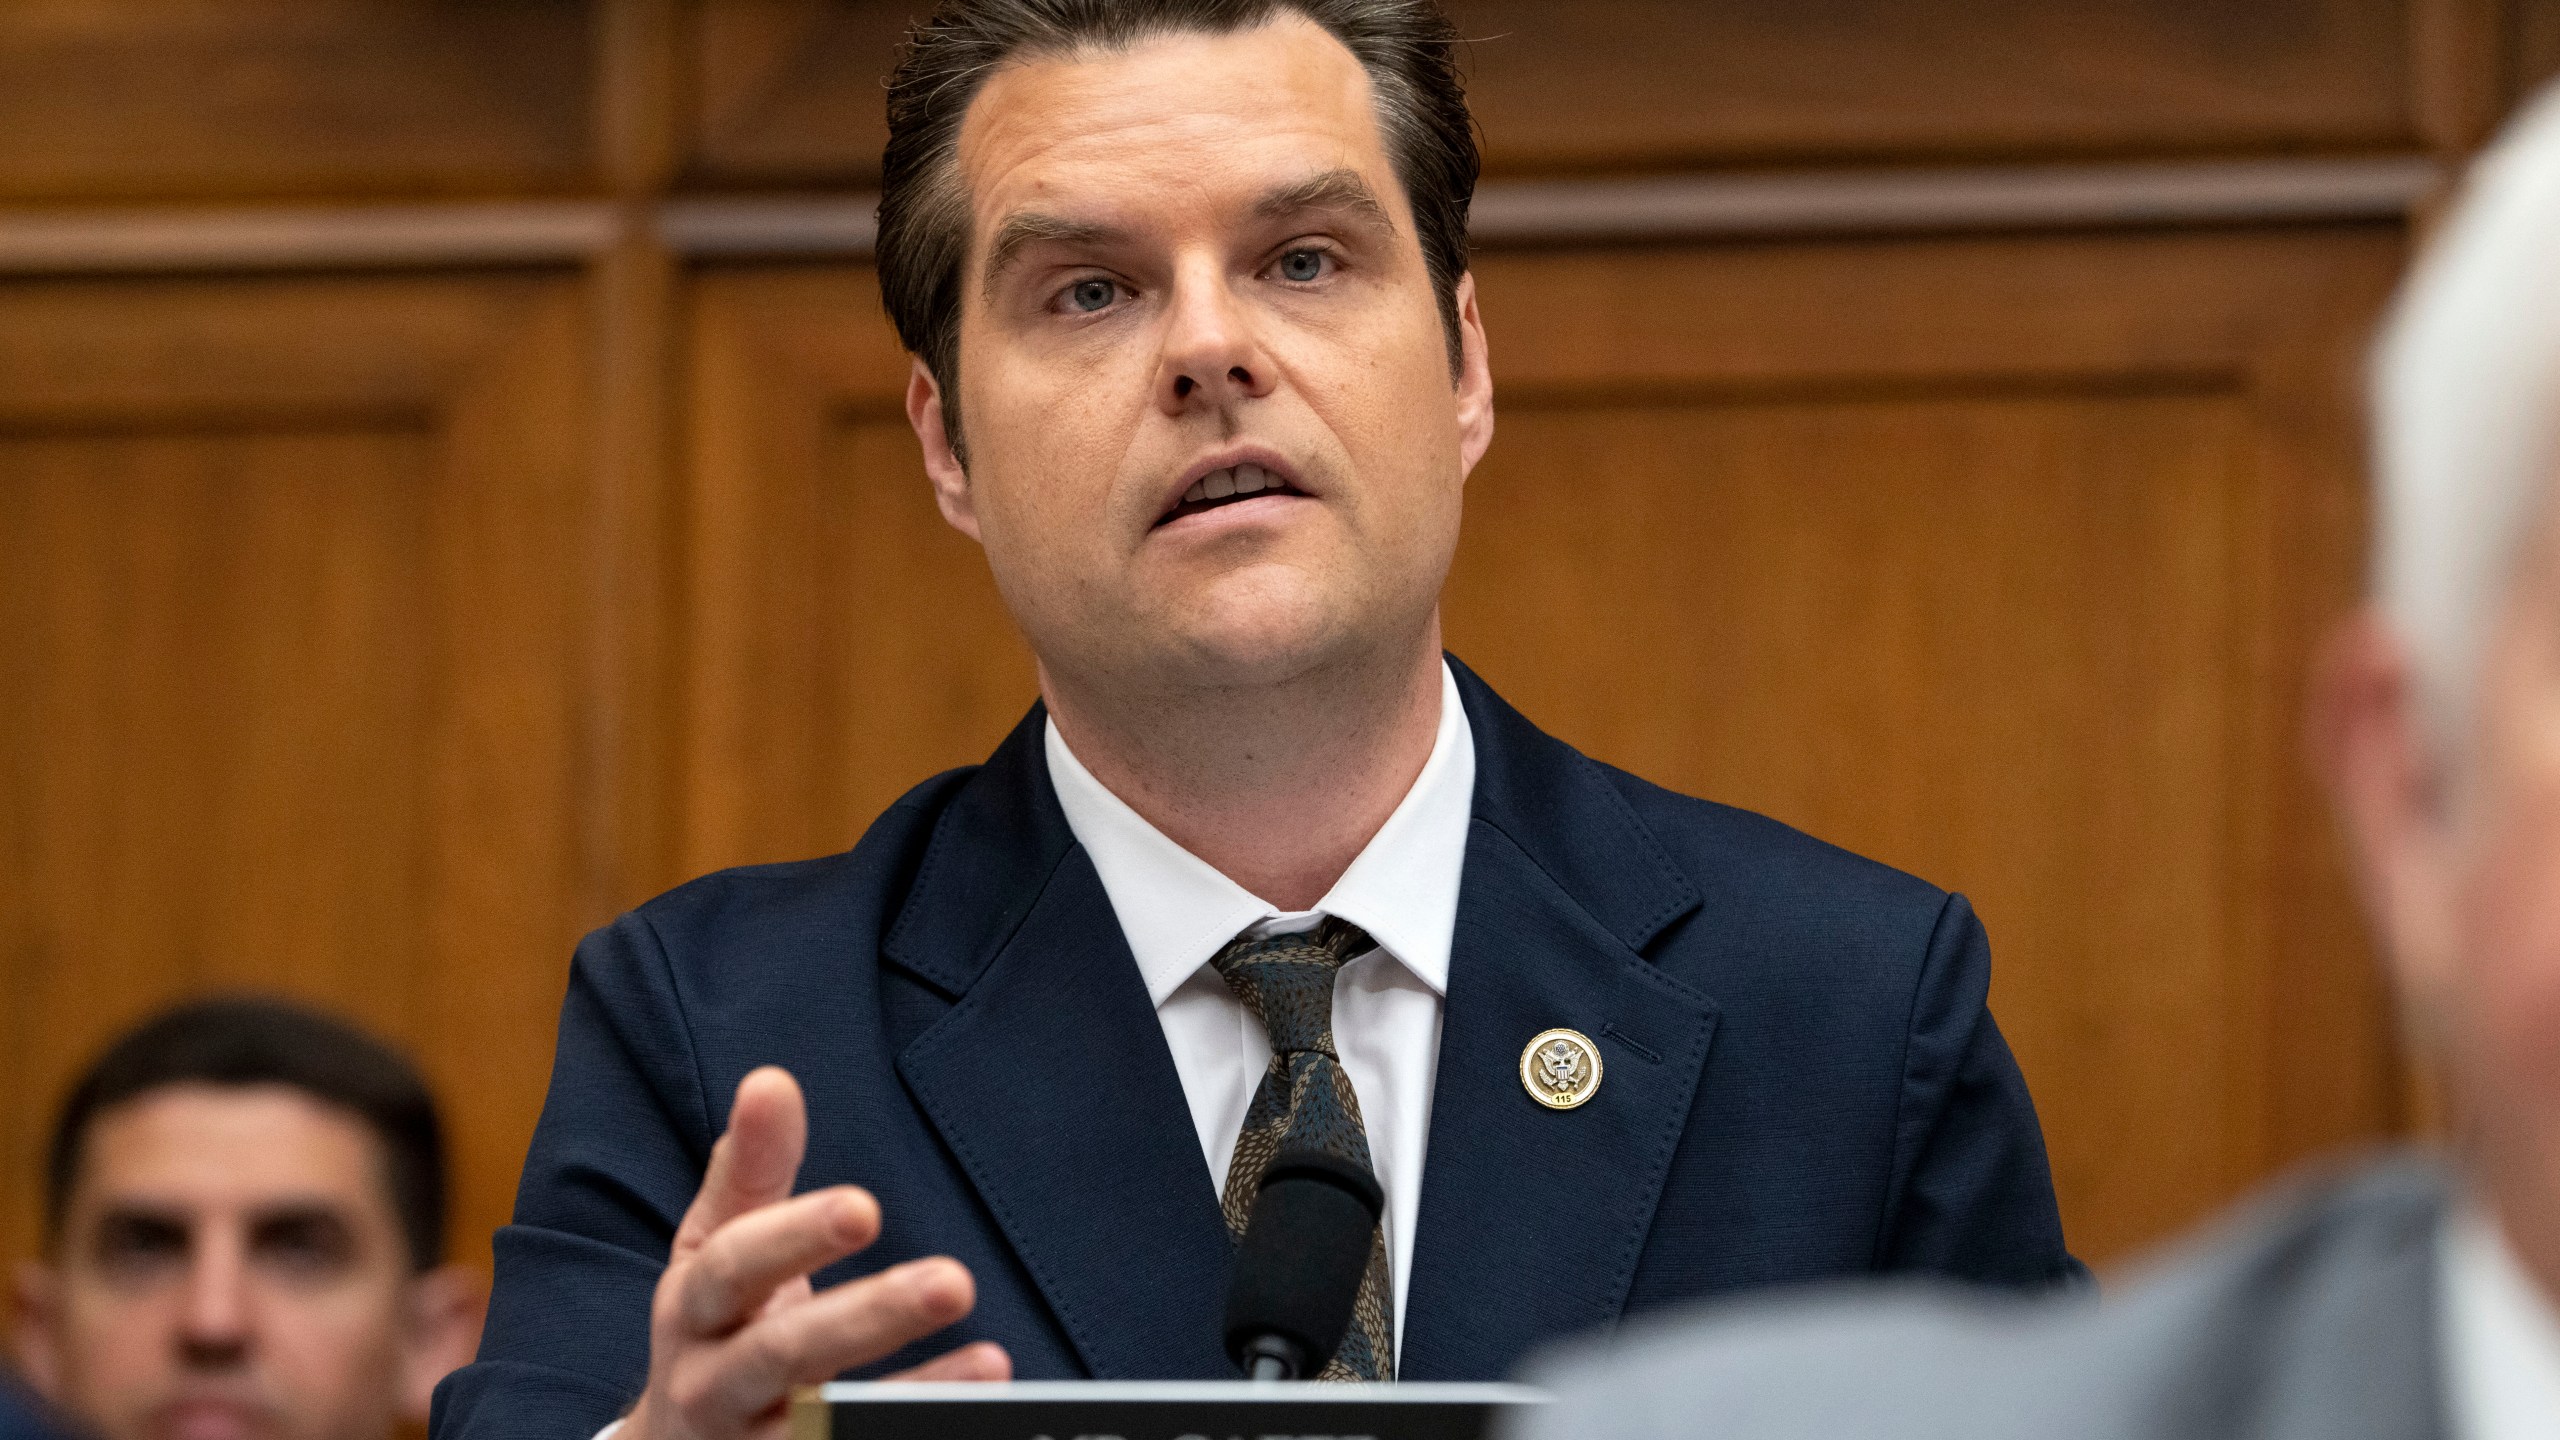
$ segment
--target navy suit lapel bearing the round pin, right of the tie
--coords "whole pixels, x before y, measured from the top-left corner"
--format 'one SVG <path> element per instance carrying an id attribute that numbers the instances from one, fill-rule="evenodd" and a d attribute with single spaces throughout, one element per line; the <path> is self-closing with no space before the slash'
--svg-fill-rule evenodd
<path id="1" fill-rule="evenodd" d="M 1715 1035 L 1715 1002 L 1641 948 L 1697 907 L 1608 776 L 1457 666 L 1477 740 L 1400 1379 L 1492 1379 L 1626 1304 Z M 1521 1086 L 1549 1027 L 1600 1048 L 1600 1092 Z"/>

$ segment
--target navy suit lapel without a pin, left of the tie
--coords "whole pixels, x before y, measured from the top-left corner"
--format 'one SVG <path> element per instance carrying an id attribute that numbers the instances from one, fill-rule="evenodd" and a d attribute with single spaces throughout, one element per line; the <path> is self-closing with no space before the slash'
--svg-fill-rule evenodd
<path id="1" fill-rule="evenodd" d="M 955 797 L 888 935 L 957 997 L 899 1074 L 1093 1376 L 1229 1376 L 1219 1197 L 1042 720 Z"/>

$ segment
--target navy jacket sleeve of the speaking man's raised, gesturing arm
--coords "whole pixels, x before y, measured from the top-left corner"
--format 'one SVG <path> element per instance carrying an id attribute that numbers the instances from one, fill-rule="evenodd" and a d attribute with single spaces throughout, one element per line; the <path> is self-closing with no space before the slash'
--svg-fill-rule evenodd
<path id="1" fill-rule="evenodd" d="M 645 915 L 579 945 L 550 1097 L 525 1156 L 479 1361 L 435 1391 L 435 1440 L 586 1440 L 648 1381 L 648 1317 L 709 1145 L 712 1102 Z"/>

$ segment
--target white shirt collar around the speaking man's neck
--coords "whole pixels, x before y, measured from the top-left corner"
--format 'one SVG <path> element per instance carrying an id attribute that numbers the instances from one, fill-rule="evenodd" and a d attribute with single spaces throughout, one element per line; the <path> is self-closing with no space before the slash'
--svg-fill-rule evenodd
<path id="1" fill-rule="evenodd" d="M 1457 930 L 1457 884 L 1475 812 L 1475 733 L 1449 661 L 1441 661 L 1441 717 L 1431 758 L 1313 912 L 1283 912 L 1172 843 L 1093 779 L 1057 733 L 1057 720 L 1047 723 L 1042 743 L 1057 807 L 1068 812 L 1068 830 L 1101 874 L 1155 1004 L 1165 1004 L 1244 928 L 1290 928 L 1308 915 L 1359 925 L 1434 994 L 1449 992 L 1449 938 Z"/>

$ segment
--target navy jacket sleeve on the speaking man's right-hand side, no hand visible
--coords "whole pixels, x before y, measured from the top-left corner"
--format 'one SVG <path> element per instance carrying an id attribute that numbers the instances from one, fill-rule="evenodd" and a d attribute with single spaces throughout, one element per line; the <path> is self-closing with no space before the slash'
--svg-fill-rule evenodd
<path id="1" fill-rule="evenodd" d="M 2035 1102 L 1989 1010 L 1992 943 L 1951 894 L 1912 986 L 1879 1271 L 2084 1284 L 2063 1248 Z"/>

